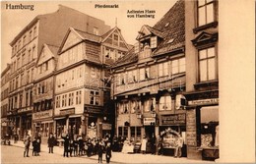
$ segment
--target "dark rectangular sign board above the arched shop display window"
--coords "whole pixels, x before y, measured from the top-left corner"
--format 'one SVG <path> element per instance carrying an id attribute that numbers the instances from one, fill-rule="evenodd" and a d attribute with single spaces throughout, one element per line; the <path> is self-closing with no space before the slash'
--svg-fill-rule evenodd
<path id="1" fill-rule="evenodd" d="M 162 125 L 171 125 L 171 124 L 186 124 L 186 114 L 172 114 L 172 115 L 163 115 L 161 116 Z"/>

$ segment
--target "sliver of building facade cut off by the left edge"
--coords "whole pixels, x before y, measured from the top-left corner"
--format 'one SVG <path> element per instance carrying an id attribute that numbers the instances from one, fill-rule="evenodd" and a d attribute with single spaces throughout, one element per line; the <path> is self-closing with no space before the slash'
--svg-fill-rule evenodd
<path id="1" fill-rule="evenodd" d="M 9 112 L 9 80 L 10 65 L 7 64 L 6 69 L 1 73 L 1 137 L 6 134 L 11 135 L 12 123 L 9 122 L 7 114 Z"/>

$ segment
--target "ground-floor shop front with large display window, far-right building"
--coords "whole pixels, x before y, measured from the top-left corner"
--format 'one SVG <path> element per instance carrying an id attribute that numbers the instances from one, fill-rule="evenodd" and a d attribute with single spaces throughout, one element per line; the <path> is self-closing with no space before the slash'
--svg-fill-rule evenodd
<path id="1" fill-rule="evenodd" d="M 219 98 L 188 101 L 188 158 L 219 158 Z"/>

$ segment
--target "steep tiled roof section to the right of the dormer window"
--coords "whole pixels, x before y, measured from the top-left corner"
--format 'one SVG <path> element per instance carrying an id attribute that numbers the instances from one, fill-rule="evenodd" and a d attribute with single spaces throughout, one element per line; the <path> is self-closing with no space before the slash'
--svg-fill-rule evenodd
<path id="1" fill-rule="evenodd" d="M 185 46 L 185 2 L 177 1 L 154 26 L 164 33 L 163 41 L 153 52 L 154 56 L 175 51 Z"/>

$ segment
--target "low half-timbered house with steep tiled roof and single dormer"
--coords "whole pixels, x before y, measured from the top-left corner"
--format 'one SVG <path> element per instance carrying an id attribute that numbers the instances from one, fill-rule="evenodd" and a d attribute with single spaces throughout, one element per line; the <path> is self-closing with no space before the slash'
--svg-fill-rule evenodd
<path id="1" fill-rule="evenodd" d="M 147 137 L 147 152 L 155 152 L 150 145 L 160 136 L 165 153 L 173 155 L 170 142 L 178 134 L 185 138 L 184 26 L 184 1 L 178 1 L 154 27 L 141 27 L 134 49 L 112 67 L 116 135 L 132 142 Z"/>

